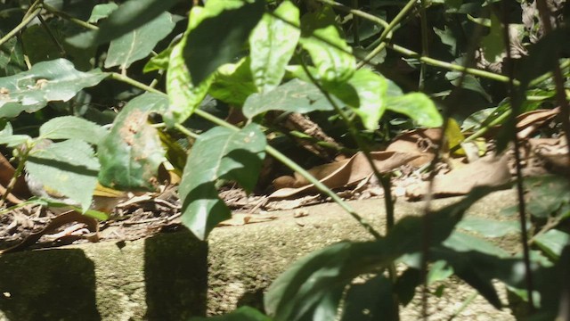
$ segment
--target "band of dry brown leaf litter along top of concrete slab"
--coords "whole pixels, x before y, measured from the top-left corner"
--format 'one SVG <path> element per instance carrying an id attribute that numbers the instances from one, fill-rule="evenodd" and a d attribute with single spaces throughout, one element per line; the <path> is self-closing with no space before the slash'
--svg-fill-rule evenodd
<path id="1" fill-rule="evenodd" d="M 535 138 L 557 111 L 531 111 L 519 116 L 517 128 L 524 133 L 523 151 L 525 176 L 544 173 L 567 173 L 570 157 L 564 137 Z M 529 131 L 528 128 L 533 128 Z M 392 192 L 410 201 L 420 200 L 428 191 L 425 171 L 433 160 L 439 129 L 416 129 L 397 136 L 386 151 L 371 152 L 371 160 L 379 173 L 392 177 Z M 519 136 L 523 135 L 519 132 Z M 508 185 L 513 173 L 512 148 L 503 155 L 493 155 L 493 144 L 487 143 L 485 156 L 468 161 L 465 156 L 452 155 L 444 146 L 442 161 L 437 164 L 433 193 L 446 197 L 468 193 L 477 185 Z M 480 151 L 479 151 L 480 152 Z M 373 175 L 370 162 L 362 152 L 316 166 L 308 171 L 322 184 L 335 190 L 342 198 L 357 200 L 382 197 L 383 190 Z M 397 173 L 397 174 L 395 174 Z M 267 174 L 270 175 L 270 174 Z M 263 178 L 263 177 L 262 177 Z M 269 180 L 271 181 L 271 179 Z M 2 186 L 4 187 L 4 183 Z M 241 226 L 277 219 L 272 210 L 303 210 L 305 206 L 330 200 L 299 174 L 273 179 L 273 193 L 246 193 L 237 185 L 219 189 L 220 197 L 232 209 L 232 218 L 218 226 Z M 110 219 L 97 222 L 77 212 L 57 214 L 36 204 L 28 204 L 0 216 L 0 251 L 21 251 L 68 243 L 97 241 L 128 241 L 149 235 L 177 231 L 181 204 L 175 185 L 161 185 L 159 193 L 131 195 L 113 210 Z M 302 217 L 302 215 L 298 215 Z"/>

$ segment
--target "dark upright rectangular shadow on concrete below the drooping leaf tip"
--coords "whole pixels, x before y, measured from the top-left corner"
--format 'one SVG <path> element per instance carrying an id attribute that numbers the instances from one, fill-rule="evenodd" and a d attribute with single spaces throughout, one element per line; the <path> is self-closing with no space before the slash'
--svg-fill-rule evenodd
<path id="1" fill-rule="evenodd" d="M 146 320 L 206 316 L 208 243 L 188 230 L 144 241 Z"/>

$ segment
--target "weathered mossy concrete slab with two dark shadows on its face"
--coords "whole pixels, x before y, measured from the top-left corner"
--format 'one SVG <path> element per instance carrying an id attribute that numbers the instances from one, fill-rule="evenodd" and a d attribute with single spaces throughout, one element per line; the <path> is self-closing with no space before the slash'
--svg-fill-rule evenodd
<path id="1" fill-rule="evenodd" d="M 453 199 L 440 200 L 444 206 Z M 470 215 L 498 217 L 514 193 L 493 193 Z M 351 202 L 379 230 L 383 200 Z M 396 216 L 418 215 L 421 203 L 396 203 Z M 248 304 L 260 308 L 263 291 L 287 266 L 310 251 L 370 235 L 335 204 L 305 208 L 308 216 L 276 212 L 272 222 L 217 228 L 207 243 L 189 233 L 124 243 L 91 243 L 0 256 L 0 320 L 184 320 Z M 474 291 L 450 282 L 430 315 L 452 315 Z M 416 298 L 418 299 L 418 298 Z M 456 319 L 514 319 L 477 298 Z M 419 317 L 418 300 L 403 311 Z"/>

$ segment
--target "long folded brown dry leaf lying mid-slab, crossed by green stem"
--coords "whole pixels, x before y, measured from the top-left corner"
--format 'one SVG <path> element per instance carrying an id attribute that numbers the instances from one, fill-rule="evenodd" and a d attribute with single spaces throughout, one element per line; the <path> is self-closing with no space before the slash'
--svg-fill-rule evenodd
<path id="1" fill-rule="evenodd" d="M 380 173 L 387 173 L 396 169 L 416 159 L 418 156 L 418 154 L 409 152 L 371 152 L 371 158 Z M 348 160 L 318 166 L 309 170 L 309 172 L 329 188 L 338 188 L 358 183 L 362 179 L 369 177 L 373 171 L 364 153 L 357 152 Z M 297 193 L 317 191 L 313 184 L 308 184 L 304 177 L 302 179 L 299 177 L 297 175 L 295 178 L 295 186 L 300 187 L 281 188 L 269 195 L 269 198 L 286 198 Z"/>

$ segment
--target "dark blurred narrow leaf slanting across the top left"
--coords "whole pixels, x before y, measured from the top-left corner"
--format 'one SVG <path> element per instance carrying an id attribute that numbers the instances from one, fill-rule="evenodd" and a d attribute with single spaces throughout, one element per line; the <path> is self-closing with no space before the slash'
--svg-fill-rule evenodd
<path id="1" fill-rule="evenodd" d="M 89 30 L 67 39 L 70 45 L 88 48 L 102 45 L 153 21 L 178 0 L 130 0 L 121 4 L 109 18 L 102 21 L 98 30 Z"/>

